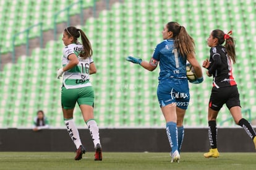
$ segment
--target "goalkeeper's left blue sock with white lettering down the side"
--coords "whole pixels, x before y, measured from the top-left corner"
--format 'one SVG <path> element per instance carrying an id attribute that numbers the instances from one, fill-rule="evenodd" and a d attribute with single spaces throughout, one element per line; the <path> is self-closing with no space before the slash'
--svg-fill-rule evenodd
<path id="1" fill-rule="evenodd" d="M 177 124 L 175 122 L 166 123 L 166 134 L 171 146 L 172 153 L 178 150 L 177 145 Z"/>

